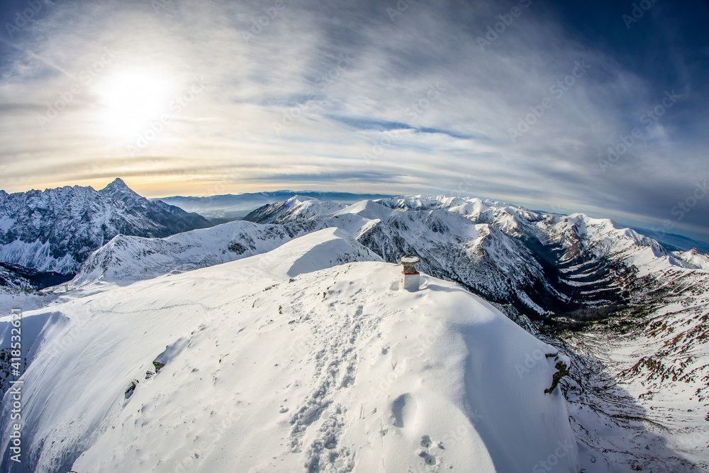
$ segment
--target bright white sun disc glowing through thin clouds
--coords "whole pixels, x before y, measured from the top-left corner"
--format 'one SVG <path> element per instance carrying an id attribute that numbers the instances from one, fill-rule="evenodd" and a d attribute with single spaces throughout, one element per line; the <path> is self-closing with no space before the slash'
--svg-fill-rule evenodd
<path id="1" fill-rule="evenodd" d="M 106 77 L 96 91 L 104 108 L 101 122 L 106 133 L 133 143 L 151 121 L 169 113 L 174 82 L 158 70 L 132 67 Z"/>

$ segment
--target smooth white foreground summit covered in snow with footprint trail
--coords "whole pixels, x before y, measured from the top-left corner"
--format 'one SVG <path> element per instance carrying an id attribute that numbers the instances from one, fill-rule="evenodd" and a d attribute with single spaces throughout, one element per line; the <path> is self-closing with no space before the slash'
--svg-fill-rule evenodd
<path id="1" fill-rule="evenodd" d="M 557 351 L 449 282 L 328 267 L 366 254 L 341 231 L 52 306 L 3 470 L 578 472 Z"/>

